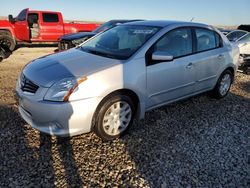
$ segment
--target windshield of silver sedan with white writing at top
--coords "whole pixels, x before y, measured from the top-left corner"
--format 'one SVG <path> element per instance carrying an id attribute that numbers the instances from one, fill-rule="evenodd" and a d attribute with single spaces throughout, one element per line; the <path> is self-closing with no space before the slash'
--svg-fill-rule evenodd
<path id="1" fill-rule="evenodd" d="M 159 27 L 121 25 L 90 39 L 80 48 L 104 57 L 127 59 L 159 30 Z"/>

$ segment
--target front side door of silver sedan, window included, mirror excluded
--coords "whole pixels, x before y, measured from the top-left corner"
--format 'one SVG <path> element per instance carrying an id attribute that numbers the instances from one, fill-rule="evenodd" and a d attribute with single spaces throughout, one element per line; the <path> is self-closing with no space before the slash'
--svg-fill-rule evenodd
<path id="1" fill-rule="evenodd" d="M 153 62 L 152 53 L 172 55 L 172 61 Z M 167 32 L 147 52 L 147 108 L 161 105 L 194 91 L 195 70 L 193 42 L 190 28 L 177 28 Z"/>

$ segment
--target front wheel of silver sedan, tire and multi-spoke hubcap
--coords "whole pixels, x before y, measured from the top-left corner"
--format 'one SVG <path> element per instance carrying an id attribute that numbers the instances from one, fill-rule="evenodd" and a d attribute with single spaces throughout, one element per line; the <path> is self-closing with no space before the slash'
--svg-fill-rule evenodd
<path id="1" fill-rule="evenodd" d="M 93 131 L 104 141 L 119 138 L 131 126 L 134 114 L 135 106 L 130 97 L 122 94 L 108 97 L 95 113 Z"/>

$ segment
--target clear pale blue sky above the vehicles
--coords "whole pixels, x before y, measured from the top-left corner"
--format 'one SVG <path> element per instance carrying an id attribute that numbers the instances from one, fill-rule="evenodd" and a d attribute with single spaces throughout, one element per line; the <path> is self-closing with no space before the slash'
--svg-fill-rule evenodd
<path id="1" fill-rule="evenodd" d="M 0 16 L 22 9 L 60 11 L 66 20 L 182 20 L 250 24 L 250 0 L 0 0 Z"/>

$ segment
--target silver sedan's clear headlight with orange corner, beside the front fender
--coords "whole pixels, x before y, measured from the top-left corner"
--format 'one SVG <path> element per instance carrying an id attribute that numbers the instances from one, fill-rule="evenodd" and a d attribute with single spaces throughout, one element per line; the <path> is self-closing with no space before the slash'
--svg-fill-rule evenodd
<path id="1" fill-rule="evenodd" d="M 44 100 L 67 102 L 70 95 L 76 91 L 78 85 L 85 80 L 87 80 L 87 77 L 62 79 L 49 88 Z"/>

